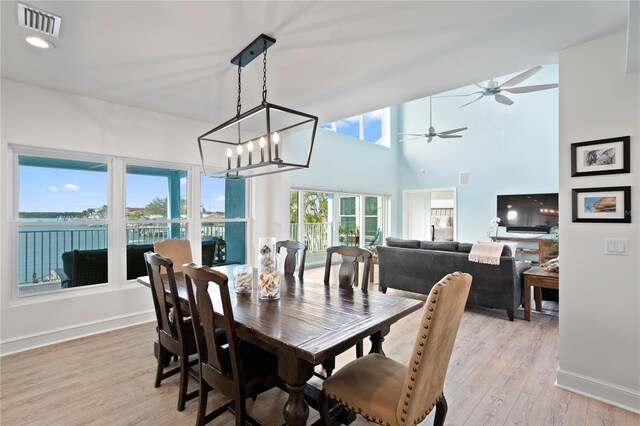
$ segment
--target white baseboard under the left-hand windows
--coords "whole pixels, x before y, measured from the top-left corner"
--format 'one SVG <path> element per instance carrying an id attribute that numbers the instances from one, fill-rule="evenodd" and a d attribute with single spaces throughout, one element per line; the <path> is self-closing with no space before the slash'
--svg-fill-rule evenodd
<path id="1" fill-rule="evenodd" d="M 0 356 L 48 346 L 54 343 L 79 339 L 81 337 L 104 333 L 155 320 L 155 312 L 150 310 L 7 339 L 0 342 Z"/>

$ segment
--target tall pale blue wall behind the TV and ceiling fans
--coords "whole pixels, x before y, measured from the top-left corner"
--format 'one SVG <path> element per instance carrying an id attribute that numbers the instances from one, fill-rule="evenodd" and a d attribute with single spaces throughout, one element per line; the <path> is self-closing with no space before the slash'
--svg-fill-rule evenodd
<path id="1" fill-rule="evenodd" d="M 497 80 L 502 83 L 508 78 Z M 556 83 L 557 65 L 545 65 L 519 86 Z M 477 92 L 467 86 L 441 95 Z M 506 94 L 507 106 L 475 96 L 432 98 L 432 123 L 438 131 L 468 127 L 460 139 L 435 138 L 400 142 L 399 185 L 402 189 L 457 188 L 457 238 L 484 239 L 496 215 L 498 194 L 558 191 L 558 90 Z M 399 106 L 398 131 L 423 133 L 429 128 L 429 98 Z M 398 136 L 402 139 L 402 136 Z M 424 170 L 424 173 L 422 173 Z M 459 185 L 459 173 L 469 183 Z M 399 216 L 396 216 L 399 218 Z M 501 231 L 502 235 L 502 231 Z"/>

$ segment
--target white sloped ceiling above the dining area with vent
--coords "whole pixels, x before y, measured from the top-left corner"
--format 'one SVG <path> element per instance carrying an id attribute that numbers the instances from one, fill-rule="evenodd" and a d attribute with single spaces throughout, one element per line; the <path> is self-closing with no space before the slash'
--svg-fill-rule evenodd
<path id="1" fill-rule="evenodd" d="M 321 122 L 535 65 L 626 29 L 627 1 L 89 2 L 26 1 L 62 17 L 56 48 L 24 41 L 16 2 L 1 4 L 2 77 L 166 114 L 235 114 L 230 59 L 260 33 L 268 99 Z M 260 101 L 261 61 L 243 71 Z M 597 66 L 597 64 L 594 64 Z"/>

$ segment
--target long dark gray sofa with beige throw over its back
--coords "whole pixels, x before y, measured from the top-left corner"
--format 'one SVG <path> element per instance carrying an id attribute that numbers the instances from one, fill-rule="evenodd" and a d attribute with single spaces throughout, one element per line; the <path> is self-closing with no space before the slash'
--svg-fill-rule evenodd
<path id="1" fill-rule="evenodd" d="M 445 275 L 467 272 L 473 276 L 467 303 L 506 309 L 513 321 L 514 311 L 522 304 L 522 273 L 531 265 L 516 263 L 508 246 L 502 251 L 500 265 L 471 262 L 468 259 L 471 246 L 457 241 L 387 238 L 387 245 L 377 247 L 380 289 L 429 294 L 431 287 Z"/>

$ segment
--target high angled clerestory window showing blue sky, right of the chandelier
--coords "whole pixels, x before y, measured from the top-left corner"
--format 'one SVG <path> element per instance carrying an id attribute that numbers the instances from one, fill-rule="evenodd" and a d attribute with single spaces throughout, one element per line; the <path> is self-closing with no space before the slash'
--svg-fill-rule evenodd
<path id="1" fill-rule="evenodd" d="M 389 146 L 389 108 L 322 124 L 320 128 L 372 144 Z"/>

